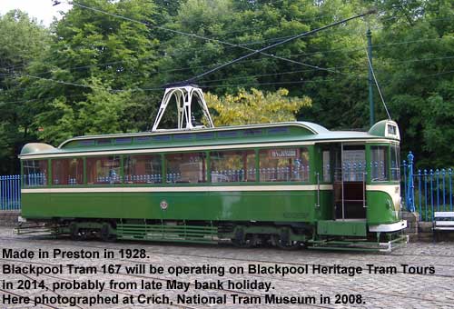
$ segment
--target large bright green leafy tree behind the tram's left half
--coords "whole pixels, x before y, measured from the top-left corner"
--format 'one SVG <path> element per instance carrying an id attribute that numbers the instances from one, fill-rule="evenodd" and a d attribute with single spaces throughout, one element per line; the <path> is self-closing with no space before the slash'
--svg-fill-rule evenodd
<path id="1" fill-rule="evenodd" d="M 153 24 L 151 1 L 76 3 Z M 29 108 L 37 115 L 31 126 L 42 130 L 38 136 L 45 143 L 61 142 L 64 136 L 144 130 L 149 123 L 154 96 L 142 89 L 150 87 L 158 40 L 147 25 L 108 14 L 73 5 L 53 26 L 49 52 L 31 65 L 35 77 L 22 80 L 29 89 L 25 95 L 40 98 Z"/>

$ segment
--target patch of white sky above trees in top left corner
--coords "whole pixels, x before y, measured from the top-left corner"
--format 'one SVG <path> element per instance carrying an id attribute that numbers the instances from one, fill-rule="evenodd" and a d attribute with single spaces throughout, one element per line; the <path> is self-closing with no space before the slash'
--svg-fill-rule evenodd
<path id="1" fill-rule="evenodd" d="M 20 9 L 48 26 L 52 23 L 54 16 L 57 19 L 60 18 L 59 11 L 66 12 L 71 7 L 64 0 L 59 2 L 60 5 L 52 6 L 53 0 L 0 0 L 0 15 L 5 15 L 10 10 Z"/>

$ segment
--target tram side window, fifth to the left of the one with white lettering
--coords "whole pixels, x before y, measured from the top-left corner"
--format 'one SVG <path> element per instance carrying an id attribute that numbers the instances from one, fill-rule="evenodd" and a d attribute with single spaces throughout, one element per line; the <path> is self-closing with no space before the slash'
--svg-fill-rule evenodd
<path id="1" fill-rule="evenodd" d="M 84 161 L 82 159 L 53 159 L 52 184 L 83 184 Z"/>

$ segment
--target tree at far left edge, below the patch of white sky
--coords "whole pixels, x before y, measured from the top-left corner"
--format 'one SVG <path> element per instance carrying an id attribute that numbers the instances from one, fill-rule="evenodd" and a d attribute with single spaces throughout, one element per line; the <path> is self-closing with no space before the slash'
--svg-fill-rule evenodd
<path id="1" fill-rule="evenodd" d="M 50 44 L 50 34 L 21 11 L 0 15 L 0 174 L 18 170 L 17 154 L 30 135 L 34 114 L 26 108 L 25 89 L 17 78 Z"/>

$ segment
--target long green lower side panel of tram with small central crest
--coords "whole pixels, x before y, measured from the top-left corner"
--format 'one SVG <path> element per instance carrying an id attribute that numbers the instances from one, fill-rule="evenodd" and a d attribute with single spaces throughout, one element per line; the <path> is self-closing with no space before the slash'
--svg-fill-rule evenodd
<path id="1" fill-rule="evenodd" d="M 330 191 L 321 191 L 320 195 L 314 191 L 123 193 L 121 188 L 118 188 L 116 192 L 109 193 L 25 193 L 22 215 L 29 219 L 314 223 L 320 219 L 331 219 L 331 201 Z"/>

